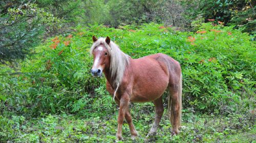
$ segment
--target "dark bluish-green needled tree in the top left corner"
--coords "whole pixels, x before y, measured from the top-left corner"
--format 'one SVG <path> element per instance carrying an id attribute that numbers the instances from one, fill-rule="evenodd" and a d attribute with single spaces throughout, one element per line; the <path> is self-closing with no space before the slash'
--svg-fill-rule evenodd
<path id="1" fill-rule="evenodd" d="M 46 26 L 53 26 L 58 19 L 40 9 L 36 4 L 22 3 L 0 5 L 0 62 L 24 59 L 31 47 L 38 45 Z"/>

